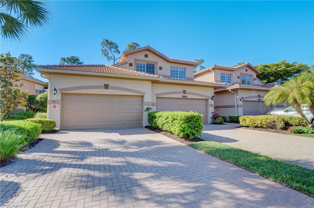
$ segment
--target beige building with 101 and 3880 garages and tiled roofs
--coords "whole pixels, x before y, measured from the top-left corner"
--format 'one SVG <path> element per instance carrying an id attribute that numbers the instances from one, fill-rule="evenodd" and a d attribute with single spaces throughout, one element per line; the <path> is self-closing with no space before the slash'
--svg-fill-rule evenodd
<path id="1" fill-rule="evenodd" d="M 146 46 L 122 53 L 114 66 L 41 65 L 36 70 L 49 79 L 48 118 L 57 128 L 94 129 L 146 126 L 148 106 L 197 111 L 209 123 L 214 88 L 225 84 L 194 80 L 197 66 Z"/>

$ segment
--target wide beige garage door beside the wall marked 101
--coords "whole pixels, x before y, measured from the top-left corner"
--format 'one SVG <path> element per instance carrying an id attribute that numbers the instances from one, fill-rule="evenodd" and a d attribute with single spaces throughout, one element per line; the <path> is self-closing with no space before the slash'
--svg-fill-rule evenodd
<path id="1" fill-rule="evenodd" d="M 143 97 L 62 94 L 61 129 L 143 126 Z"/>

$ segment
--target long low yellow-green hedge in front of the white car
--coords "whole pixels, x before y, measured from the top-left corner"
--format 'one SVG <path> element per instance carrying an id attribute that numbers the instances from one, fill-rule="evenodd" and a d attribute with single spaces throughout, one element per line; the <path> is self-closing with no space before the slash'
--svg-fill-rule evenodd
<path id="1" fill-rule="evenodd" d="M 240 124 L 248 127 L 282 129 L 284 126 L 307 126 L 302 117 L 282 115 L 248 115 L 240 117 Z"/>

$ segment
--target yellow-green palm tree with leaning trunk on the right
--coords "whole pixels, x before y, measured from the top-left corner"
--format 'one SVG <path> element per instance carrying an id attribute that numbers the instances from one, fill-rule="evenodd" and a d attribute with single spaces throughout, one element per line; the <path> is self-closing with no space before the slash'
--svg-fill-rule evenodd
<path id="1" fill-rule="evenodd" d="M 283 85 L 270 89 L 264 96 L 265 104 L 269 106 L 270 104 L 286 101 L 292 104 L 292 107 L 295 108 L 297 113 L 300 114 L 309 125 L 312 125 L 301 109 L 301 104 L 310 102 L 308 85 L 309 82 L 304 79 L 304 76 L 293 77 Z"/>

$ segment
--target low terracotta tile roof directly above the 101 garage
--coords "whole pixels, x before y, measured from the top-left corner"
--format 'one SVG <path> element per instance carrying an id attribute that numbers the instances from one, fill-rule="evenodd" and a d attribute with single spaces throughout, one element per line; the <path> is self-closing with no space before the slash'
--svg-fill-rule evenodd
<path id="1" fill-rule="evenodd" d="M 104 64 L 82 64 L 82 65 L 39 65 L 38 68 L 43 69 L 59 69 L 68 71 L 79 71 L 79 72 L 94 72 L 94 73 L 105 73 L 105 74 L 121 74 L 130 76 L 141 76 L 141 77 L 159 77 L 154 74 L 147 74 L 144 72 L 138 72 L 130 69 L 114 67 Z"/>

